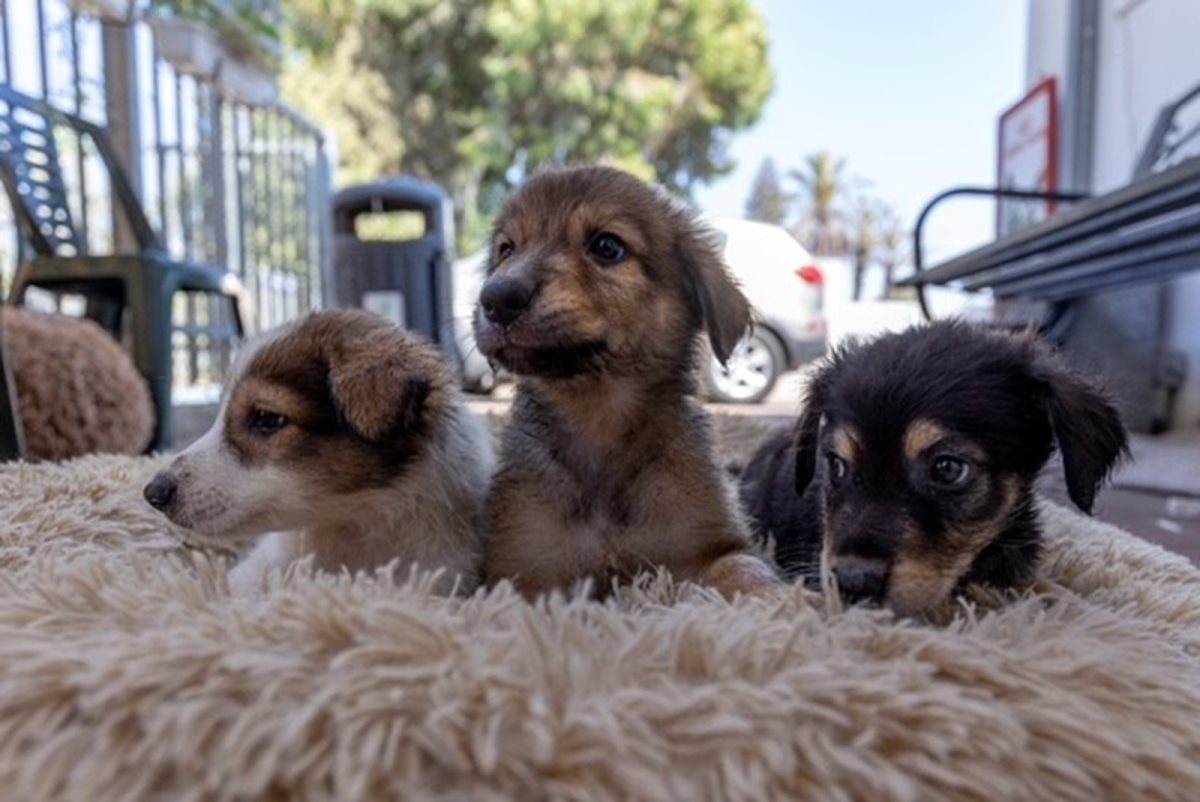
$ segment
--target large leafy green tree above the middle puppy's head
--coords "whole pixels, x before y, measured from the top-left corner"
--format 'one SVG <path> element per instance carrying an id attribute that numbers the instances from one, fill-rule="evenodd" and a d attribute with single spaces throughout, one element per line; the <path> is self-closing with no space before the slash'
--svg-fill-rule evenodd
<path id="1" fill-rule="evenodd" d="M 683 194 L 732 169 L 772 90 L 750 0 L 293 0 L 287 97 L 349 181 L 448 187 L 463 239 L 545 163 L 606 161 Z"/>

